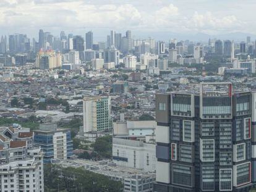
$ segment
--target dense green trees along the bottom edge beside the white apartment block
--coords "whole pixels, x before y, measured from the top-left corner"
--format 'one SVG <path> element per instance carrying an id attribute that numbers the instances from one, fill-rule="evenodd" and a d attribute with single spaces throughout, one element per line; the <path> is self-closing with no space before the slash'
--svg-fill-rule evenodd
<path id="1" fill-rule="evenodd" d="M 121 192 L 121 182 L 82 168 L 62 168 L 53 164 L 44 165 L 45 191 L 92 191 Z"/>

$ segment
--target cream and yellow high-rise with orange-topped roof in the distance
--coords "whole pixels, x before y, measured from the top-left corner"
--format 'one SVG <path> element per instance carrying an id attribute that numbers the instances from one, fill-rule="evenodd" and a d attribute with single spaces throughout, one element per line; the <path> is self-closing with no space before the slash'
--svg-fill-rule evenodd
<path id="1" fill-rule="evenodd" d="M 55 69 L 61 67 L 61 54 L 53 50 L 39 51 L 36 55 L 36 67 L 39 69 Z"/>

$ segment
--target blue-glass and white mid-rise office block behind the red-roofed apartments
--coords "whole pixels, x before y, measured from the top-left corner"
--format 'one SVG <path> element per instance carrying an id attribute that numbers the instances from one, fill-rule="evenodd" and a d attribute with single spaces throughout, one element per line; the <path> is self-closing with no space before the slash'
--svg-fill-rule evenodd
<path id="1" fill-rule="evenodd" d="M 73 141 L 69 129 L 58 128 L 54 123 L 40 124 L 34 131 L 35 144 L 44 152 L 43 162 L 65 160 L 73 155 Z"/>

